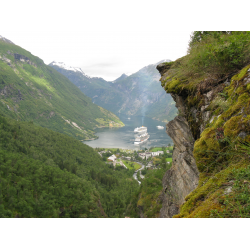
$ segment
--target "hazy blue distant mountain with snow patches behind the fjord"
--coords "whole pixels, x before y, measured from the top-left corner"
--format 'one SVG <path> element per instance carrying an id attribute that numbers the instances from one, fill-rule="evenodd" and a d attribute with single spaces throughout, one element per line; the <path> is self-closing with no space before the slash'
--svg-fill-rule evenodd
<path id="1" fill-rule="evenodd" d="M 156 66 L 170 60 L 161 60 L 145 66 L 132 75 L 122 74 L 114 81 L 89 77 L 79 68 L 52 62 L 52 68 L 66 76 L 93 102 L 115 114 L 142 115 L 168 122 L 177 109 L 171 95 L 161 88 Z"/>

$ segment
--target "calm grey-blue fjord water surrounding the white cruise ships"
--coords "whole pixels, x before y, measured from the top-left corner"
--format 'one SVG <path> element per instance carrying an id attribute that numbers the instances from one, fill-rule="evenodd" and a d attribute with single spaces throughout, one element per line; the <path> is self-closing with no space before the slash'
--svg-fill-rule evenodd
<path id="1" fill-rule="evenodd" d="M 85 141 L 84 143 L 92 148 L 123 148 L 133 150 L 144 149 L 145 147 L 168 146 L 169 143 L 173 145 L 172 139 L 166 133 L 166 124 L 164 122 L 142 116 L 118 116 L 125 124 L 124 127 L 96 129 L 96 135 L 99 136 L 99 138 L 93 141 Z M 129 117 L 130 119 L 128 119 Z M 134 133 L 134 129 L 142 125 L 147 127 L 150 137 L 147 142 L 135 146 L 134 140 L 136 133 Z M 157 129 L 156 126 L 163 126 L 164 129 Z"/>

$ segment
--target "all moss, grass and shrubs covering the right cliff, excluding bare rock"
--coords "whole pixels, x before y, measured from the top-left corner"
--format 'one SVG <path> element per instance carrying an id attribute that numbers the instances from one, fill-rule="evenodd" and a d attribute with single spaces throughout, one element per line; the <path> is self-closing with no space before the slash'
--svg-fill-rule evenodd
<path id="1" fill-rule="evenodd" d="M 249 38 L 248 31 L 196 32 L 188 55 L 161 78 L 168 93 L 183 97 L 187 110 L 180 115 L 196 140 L 193 153 L 200 172 L 198 187 L 175 218 L 248 217 Z M 209 91 L 207 105 L 204 94 Z M 193 110 L 203 111 L 194 115 Z M 208 111 L 210 120 L 204 120 Z"/>

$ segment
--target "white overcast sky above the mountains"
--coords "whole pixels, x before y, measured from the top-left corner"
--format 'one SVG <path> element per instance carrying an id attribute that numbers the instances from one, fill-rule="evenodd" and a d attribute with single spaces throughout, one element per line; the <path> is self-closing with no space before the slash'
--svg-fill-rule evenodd
<path id="1" fill-rule="evenodd" d="M 41 58 L 64 62 L 107 81 L 187 54 L 191 31 L 0 31 Z"/>

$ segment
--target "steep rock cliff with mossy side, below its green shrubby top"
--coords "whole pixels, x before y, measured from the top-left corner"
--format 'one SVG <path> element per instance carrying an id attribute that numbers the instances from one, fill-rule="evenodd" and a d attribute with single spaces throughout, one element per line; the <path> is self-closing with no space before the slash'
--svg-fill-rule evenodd
<path id="1" fill-rule="evenodd" d="M 249 217 L 250 65 L 183 74 L 191 56 L 157 66 L 179 110 L 166 125 L 175 148 L 163 177 L 160 217 Z"/>

